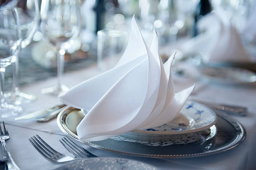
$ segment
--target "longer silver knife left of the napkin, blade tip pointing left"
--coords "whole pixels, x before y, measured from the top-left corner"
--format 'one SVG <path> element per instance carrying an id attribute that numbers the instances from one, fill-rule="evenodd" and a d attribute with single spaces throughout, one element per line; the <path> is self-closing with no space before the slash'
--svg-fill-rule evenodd
<path id="1" fill-rule="evenodd" d="M 51 113 L 60 112 L 60 110 L 65 106 L 66 106 L 65 104 L 59 104 L 59 105 L 56 105 L 56 106 L 48 108 L 48 109 L 39 110 L 39 111 L 30 113 L 30 114 L 26 114 L 21 117 L 17 117 L 17 118 L 15 118 L 15 120 L 26 120 L 26 119 L 36 118 L 36 117 L 44 117 Z"/>

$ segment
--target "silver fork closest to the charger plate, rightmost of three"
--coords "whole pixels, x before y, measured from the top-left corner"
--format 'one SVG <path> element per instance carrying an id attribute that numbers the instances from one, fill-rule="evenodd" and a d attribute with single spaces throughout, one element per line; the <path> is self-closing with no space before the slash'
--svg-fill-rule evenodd
<path id="1" fill-rule="evenodd" d="M 78 146 L 75 142 L 73 142 L 68 137 L 63 137 L 61 140 L 59 140 L 61 144 L 75 157 L 97 157 L 96 155 L 93 155 L 83 147 Z"/>

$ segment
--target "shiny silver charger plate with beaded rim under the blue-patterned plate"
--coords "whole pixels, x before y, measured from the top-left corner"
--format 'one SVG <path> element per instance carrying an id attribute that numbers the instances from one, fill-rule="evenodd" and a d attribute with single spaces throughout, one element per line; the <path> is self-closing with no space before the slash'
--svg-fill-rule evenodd
<path id="1" fill-rule="evenodd" d="M 67 136 L 77 140 L 84 145 L 88 145 L 97 149 L 133 156 L 156 158 L 187 158 L 212 155 L 228 151 L 238 146 L 246 136 L 245 130 L 236 119 L 228 116 L 222 111 L 215 110 L 218 115 L 218 119 L 215 124 L 218 131 L 214 137 L 209 140 L 205 140 L 204 142 L 195 142 L 184 145 L 169 145 L 163 147 L 148 146 L 141 143 L 119 141 L 113 139 L 96 142 L 83 142 L 79 141 L 77 134 L 72 132 L 71 129 L 75 129 L 75 126 L 68 127 L 66 124 L 66 119 L 69 116 L 69 113 L 74 112 L 81 114 L 81 117 L 78 119 L 82 120 L 82 112 L 72 107 L 64 108 L 57 118 L 57 124 L 59 128 L 62 132 L 67 134 Z"/>

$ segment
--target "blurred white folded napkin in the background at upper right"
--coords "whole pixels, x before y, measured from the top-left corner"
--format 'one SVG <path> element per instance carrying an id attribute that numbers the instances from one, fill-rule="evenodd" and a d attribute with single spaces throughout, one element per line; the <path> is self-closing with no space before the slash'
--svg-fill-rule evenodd
<path id="1" fill-rule="evenodd" d="M 223 11 L 205 15 L 199 20 L 197 27 L 204 32 L 182 45 L 184 53 L 202 53 L 202 59 L 206 63 L 250 62 L 238 31 Z"/>

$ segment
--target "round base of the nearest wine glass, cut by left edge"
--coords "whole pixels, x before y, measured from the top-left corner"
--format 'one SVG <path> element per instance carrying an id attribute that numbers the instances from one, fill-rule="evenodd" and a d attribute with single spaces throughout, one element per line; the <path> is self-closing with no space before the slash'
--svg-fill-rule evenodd
<path id="1" fill-rule="evenodd" d="M 5 103 L 0 106 L 0 117 L 13 117 L 22 112 L 22 107 L 14 106 L 12 104 Z"/>

